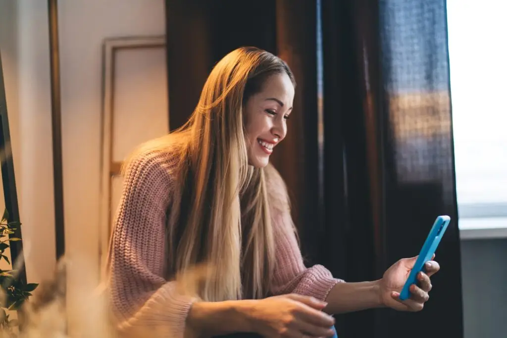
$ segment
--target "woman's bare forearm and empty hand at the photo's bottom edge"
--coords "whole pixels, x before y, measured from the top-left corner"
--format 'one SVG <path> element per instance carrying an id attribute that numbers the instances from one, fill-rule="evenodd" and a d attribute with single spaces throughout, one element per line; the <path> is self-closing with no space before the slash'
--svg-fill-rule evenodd
<path id="1" fill-rule="evenodd" d="M 265 337 L 332 336 L 335 319 L 322 312 L 327 303 L 287 294 L 260 300 L 196 302 L 190 308 L 185 337 L 255 332 Z"/>

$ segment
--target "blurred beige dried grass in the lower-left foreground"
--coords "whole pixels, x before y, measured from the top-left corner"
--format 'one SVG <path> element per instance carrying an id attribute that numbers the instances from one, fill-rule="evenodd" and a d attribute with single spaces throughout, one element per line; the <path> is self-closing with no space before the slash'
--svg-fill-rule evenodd
<path id="1" fill-rule="evenodd" d="M 51 280 L 40 283 L 33 296 L 19 312 L 21 331 L 19 338 L 152 338 L 170 337 L 170 327 L 144 325 L 129 332 L 118 332 L 113 327 L 108 311 L 104 285 L 93 285 L 86 277 L 86 265 L 79 268 L 62 259 Z M 68 292 L 66 286 L 69 268 L 83 271 L 83 276 L 73 278 Z M 181 293 L 196 296 L 205 278 L 211 275 L 209 267 L 200 266 L 177 276 Z M 168 306 L 170 306 L 168 304 Z M 196 335 L 187 331 L 186 338 Z M 12 338 L 12 332 L 0 331 L 0 338 Z"/>

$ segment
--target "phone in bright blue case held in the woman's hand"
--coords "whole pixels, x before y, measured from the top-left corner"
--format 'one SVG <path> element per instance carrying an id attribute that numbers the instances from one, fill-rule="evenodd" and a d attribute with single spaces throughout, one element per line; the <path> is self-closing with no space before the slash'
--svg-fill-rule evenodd
<path id="1" fill-rule="evenodd" d="M 402 301 L 410 298 L 410 285 L 417 283 L 417 274 L 420 271 L 423 271 L 424 264 L 433 257 L 433 253 L 437 250 L 440 240 L 442 239 L 442 236 L 444 236 L 450 221 L 451 217 L 442 215 L 438 216 L 433 223 L 433 227 L 429 231 L 428 237 L 426 237 L 426 241 L 419 252 L 414 268 L 410 271 L 410 275 L 403 286 L 402 292 L 400 292 L 400 299 L 402 299 Z"/>

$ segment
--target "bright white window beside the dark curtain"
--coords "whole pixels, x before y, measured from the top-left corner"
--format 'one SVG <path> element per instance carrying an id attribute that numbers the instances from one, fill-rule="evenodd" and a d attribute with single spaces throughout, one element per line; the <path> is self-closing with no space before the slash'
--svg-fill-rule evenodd
<path id="1" fill-rule="evenodd" d="M 504 1 L 447 1 L 459 227 L 468 238 L 507 237 L 506 12 Z"/>

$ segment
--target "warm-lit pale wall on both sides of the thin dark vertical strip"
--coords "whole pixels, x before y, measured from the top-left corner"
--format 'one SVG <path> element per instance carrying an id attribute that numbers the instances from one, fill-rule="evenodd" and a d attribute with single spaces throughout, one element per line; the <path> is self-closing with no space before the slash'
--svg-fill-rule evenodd
<path id="1" fill-rule="evenodd" d="M 66 254 L 98 262 L 101 46 L 105 38 L 163 35 L 164 0 L 60 1 Z M 29 281 L 55 265 L 47 2 L 0 0 L 0 50 Z M 142 111 L 139 111 L 142 116 Z M 94 279 L 98 267 L 89 271 Z"/>

